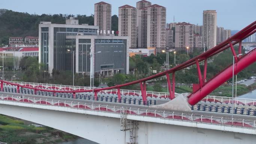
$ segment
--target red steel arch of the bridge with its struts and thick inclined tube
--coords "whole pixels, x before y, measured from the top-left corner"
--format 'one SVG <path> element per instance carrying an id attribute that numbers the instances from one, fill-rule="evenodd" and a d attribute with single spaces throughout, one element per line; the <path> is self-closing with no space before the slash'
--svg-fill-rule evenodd
<path id="1" fill-rule="evenodd" d="M 182 70 L 183 68 L 187 68 L 191 65 L 196 64 L 197 70 L 198 70 L 198 79 L 199 79 L 199 88 L 194 91 L 189 97 L 188 102 L 191 105 L 196 104 L 199 102 L 201 99 L 203 99 L 205 96 L 210 94 L 214 89 L 219 87 L 222 83 L 226 82 L 228 79 L 232 77 L 232 65 L 227 67 L 225 70 L 221 71 L 219 74 L 211 78 L 208 82 L 206 79 L 206 72 L 207 72 L 207 58 L 210 58 L 211 56 L 214 56 L 223 50 L 226 50 L 230 48 L 232 50 L 232 53 L 234 56 L 240 54 L 242 52 L 242 40 L 246 39 L 250 35 L 254 34 L 256 32 L 256 21 L 254 21 L 252 24 L 248 25 L 247 27 L 243 28 L 241 31 L 236 33 L 234 36 L 230 37 L 229 39 L 225 40 L 224 42 L 220 43 L 219 45 L 215 46 L 214 48 L 207 50 L 206 52 L 196 56 L 195 58 L 189 59 L 188 61 L 177 65 L 174 68 L 171 68 L 169 70 L 163 71 L 161 73 L 140 79 L 140 80 L 135 80 L 133 82 L 125 83 L 122 85 L 116 85 L 116 86 L 111 86 L 108 88 L 95 88 L 95 89 L 90 89 L 90 90 L 49 90 L 49 89 L 42 89 L 42 88 L 33 88 L 30 86 L 23 86 L 19 85 L 16 83 L 10 83 L 6 82 L 4 80 L 1 81 L 1 90 L 3 90 L 3 83 L 9 84 L 9 85 L 14 85 L 17 86 L 17 89 L 19 90 L 19 87 L 22 88 L 27 88 L 27 89 L 33 89 L 34 91 L 45 91 L 45 92 L 60 92 L 60 93 L 73 93 L 73 95 L 77 92 L 92 92 L 94 91 L 94 95 L 97 96 L 97 92 L 104 91 L 104 90 L 109 90 L 109 89 L 118 89 L 117 95 L 118 98 L 121 99 L 121 94 L 120 94 L 120 88 L 124 86 L 129 86 L 129 85 L 134 85 L 137 83 L 140 83 L 140 89 L 141 89 L 141 96 L 143 98 L 143 101 L 146 102 L 147 96 L 146 96 L 146 81 L 155 79 L 157 77 L 161 76 L 167 76 L 167 83 L 168 83 L 168 89 L 170 92 L 170 99 L 175 98 L 174 92 L 175 92 L 175 72 Z M 234 45 L 239 43 L 239 50 L 238 54 L 234 50 Z M 199 68 L 199 62 L 204 61 L 204 71 L 203 71 L 203 76 L 201 74 L 201 70 Z M 256 61 L 256 49 L 253 49 L 246 55 L 240 56 L 240 57 L 235 57 L 235 70 L 234 74 L 237 74 L 244 68 L 248 67 L 250 64 L 253 64 Z M 170 76 L 169 74 L 172 74 L 172 85 L 170 82 Z"/>

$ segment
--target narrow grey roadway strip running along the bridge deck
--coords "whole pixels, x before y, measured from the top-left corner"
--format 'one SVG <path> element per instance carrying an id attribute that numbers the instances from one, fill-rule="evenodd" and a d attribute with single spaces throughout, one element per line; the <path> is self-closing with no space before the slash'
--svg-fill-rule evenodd
<path id="1" fill-rule="evenodd" d="M 42 95 L 31 95 L 31 94 L 15 94 L 15 93 L 10 93 L 10 92 L 0 92 L 0 94 L 3 95 L 13 95 L 13 98 L 17 97 L 17 96 L 23 96 L 24 98 L 44 98 L 44 99 L 48 99 L 50 100 L 60 100 L 62 102 L 66 101 L 66 102 L 82 102 L 91 105 L 91 104 L 95 104 L 95 105 L 109 105 L 109 106 L 116 106 L 116 108 L 120 108 L 120 107 L 125 107 L 125 108 L 140 108 L 141 110 L 152 110 L 155 111 L 156 108 L 150 108 L 147 105 L 138 105 L 138 104 L 124 104 L 124 103 L 118 103 L 118 102 L 106 102 L 106 101 L 93 101 L 93 100 L 88 100 L 88 99 L 71 99 L 71 98 L 62 98 L 62 97 L 55 97 L 55 96 L 42 96 Z M 186 114 L 186 115 L 191 115 L 193 114 L 193 116 L 207 116 L 207 117 L 223 117 L 223 119 L 231 119 L 232 118 L 232 114 L 231 113 L 220 113 L 220 112 L 211 112 L 211 111 L 197 111 L 197 110 L 192 110 L 192 112 L 188 112 L 188 111 L 172 111 L 172 110 L 164 110 L 164 109 L 157 109 L 158 111 L 165 111 L 167 113 L 176 113 L 176 114 Z M 249 121 L 254 121 L 256 120 L 255 116 L 250 116 L 250 115 L 242 115 L 242 114 L 233 114 L 233 119 L 236 120 L 249 120 Z"/>

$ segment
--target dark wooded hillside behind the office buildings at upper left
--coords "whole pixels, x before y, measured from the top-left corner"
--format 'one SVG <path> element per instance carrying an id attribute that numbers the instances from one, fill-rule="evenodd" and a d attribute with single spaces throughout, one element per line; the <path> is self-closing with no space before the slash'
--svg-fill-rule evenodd
<path id="1" fill-rule="evenodd" d="M 14 12 L 0 9 L 0 45 L 8 45 L 9 37 L 38 36 L 40 21 L 51 21 L 55 24 L 65 24 L 65 19 L 75 17 L 79 24 L 94 25 L 94 15 L 31 15 L 29 13 Z M 112 30 L 118 30 L 118 16 L 112 16 Z"/>

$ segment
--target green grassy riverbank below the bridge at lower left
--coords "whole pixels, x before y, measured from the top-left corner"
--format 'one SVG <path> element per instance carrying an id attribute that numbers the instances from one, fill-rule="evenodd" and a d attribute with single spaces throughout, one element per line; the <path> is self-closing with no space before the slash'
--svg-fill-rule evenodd
<path id="1" fill-rule="evenodd" d="M 7 144 L 57 144 L 79 137 L 47 126 L 0 115 L 0 140 Z"/>

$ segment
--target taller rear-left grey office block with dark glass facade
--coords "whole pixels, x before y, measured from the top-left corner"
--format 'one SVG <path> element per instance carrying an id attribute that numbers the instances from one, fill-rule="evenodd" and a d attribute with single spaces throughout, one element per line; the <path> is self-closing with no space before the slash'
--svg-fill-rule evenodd
<path id="1" fill-rule="evenodd" d="M 51 24 L 51 22 L 40 22 L 39 24 L 39 62 L 45 64 L 45 70 L 51 73 L 52 69 L 65 71 L 72 70 L 72 51 L 76 41 L 66 39 L 67 36 L 96 36 L 97 26 L 91 25 L 69 25 Z M 70 50 L 70 51 L 67 51 Z M 74 62 L 75 63 L 75 62 Z M 74 69 L 75 69 L 74 64 Z"/>

